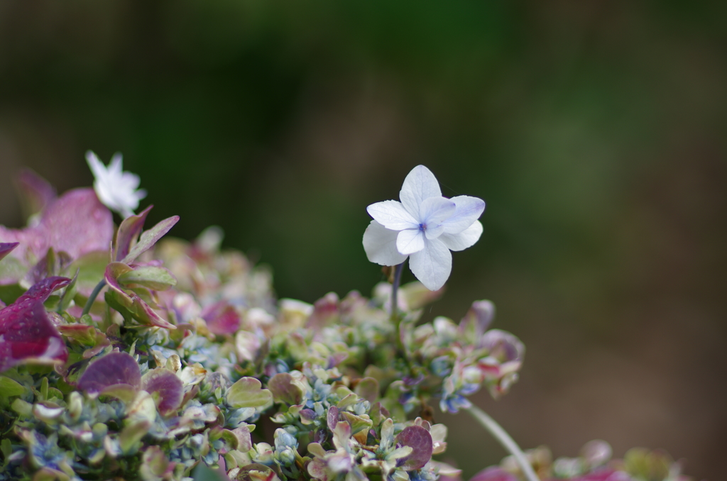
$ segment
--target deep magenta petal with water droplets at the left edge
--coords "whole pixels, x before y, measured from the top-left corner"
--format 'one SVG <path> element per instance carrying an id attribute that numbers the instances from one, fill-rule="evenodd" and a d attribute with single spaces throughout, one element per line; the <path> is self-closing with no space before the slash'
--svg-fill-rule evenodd
<path id="1" fill-rule="evenodd" d="M 0 372 L 31 361 L 65 362 L 68 351 L 43 302 L 69 282 L 67 278 L 44 279 L 0 310 Z"/>

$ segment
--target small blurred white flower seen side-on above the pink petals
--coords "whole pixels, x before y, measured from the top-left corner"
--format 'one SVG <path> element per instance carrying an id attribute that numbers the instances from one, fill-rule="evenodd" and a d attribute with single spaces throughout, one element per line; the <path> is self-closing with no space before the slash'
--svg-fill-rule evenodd
<path id="1" fill-rule="evenodd" d="M 124 217 L 134 215 L 139 201 L 146 197 L 146 191 L 137 190 L 140 182 L 137 174 L 121 171 L 121 154 L 113 155 L 108 169 L 91 150 L 86 153 L 86 161 L 95 177 L 93 188 L 99 200 Z"/>

